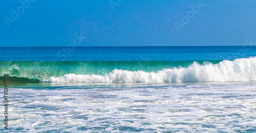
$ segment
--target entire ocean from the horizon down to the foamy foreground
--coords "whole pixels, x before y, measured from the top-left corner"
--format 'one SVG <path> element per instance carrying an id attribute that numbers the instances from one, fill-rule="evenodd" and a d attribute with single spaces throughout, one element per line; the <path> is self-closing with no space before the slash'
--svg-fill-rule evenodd
<path id="1" fill-rule="evenodd" d="M 2 88 L 8 76 L 8 129 L 0 132 L 256 132 L 253 46 L 0 53 Z"/>

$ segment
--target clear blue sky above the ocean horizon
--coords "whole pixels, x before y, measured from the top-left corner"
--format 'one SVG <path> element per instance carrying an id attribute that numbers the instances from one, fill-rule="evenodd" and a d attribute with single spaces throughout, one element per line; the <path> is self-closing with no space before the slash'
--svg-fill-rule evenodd
<path id="1" fill-rule="evenodd" d="M 67 46 L 77 35 L 86 37 L 78 46 L 243 45 L 245 39 L 256 41 L 254 0 L 205 0 L 203 7 L 199 6 L 202 0 L 112 0 L 112 6 L 109 0 L 33 1 L 0 0 L 0 46 Z M 20 7 L 20 2 L 26 7 Z M 191 6 L 199 6 L 200 11 L 195 13 Z M 18 18 L 13 15 L 13 19 L 13 11 L 19 12 Z M 174 23 L 182 24 L 182 14 L 187 17 L 187 13 L 189 22 L 178 32 Z"/>

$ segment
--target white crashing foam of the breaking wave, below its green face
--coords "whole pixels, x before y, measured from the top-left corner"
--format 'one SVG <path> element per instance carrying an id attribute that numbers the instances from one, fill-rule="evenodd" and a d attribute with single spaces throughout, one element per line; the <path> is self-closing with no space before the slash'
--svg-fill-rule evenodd
<path id="1" fill-rule="evenodd" d="M 46 82 L 244 82 L 256 81 L 256 57 L 224 60 L 218 64 L 192 63 L 187 68 L 162 69 L 157 72 L 115 69 L 105 75 L 65 74 Z"/>

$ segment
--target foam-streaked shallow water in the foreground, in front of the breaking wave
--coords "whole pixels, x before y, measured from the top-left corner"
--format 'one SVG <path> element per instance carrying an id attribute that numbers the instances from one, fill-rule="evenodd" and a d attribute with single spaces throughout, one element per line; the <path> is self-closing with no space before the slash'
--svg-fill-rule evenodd
<path id="1" fill-rule="evenodd" d="M 253 132 L 255 92 L 255 83 L 10 88 L 6 132 Z"/>

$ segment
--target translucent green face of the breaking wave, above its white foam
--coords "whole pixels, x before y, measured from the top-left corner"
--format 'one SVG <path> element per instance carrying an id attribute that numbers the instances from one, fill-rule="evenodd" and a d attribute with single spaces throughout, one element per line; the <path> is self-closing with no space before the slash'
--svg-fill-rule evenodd
<path id="1" fill-rule="evenodd" d="M 0 61 L 0 78 L 9 75 L 14 81 L 38 82 L 65 74 L 104 75 L 114 69 L 157 72 L 164 68 L 188 67 L 194 61 Z M 217 64 L 221 61 L 196 61 Z"/>

